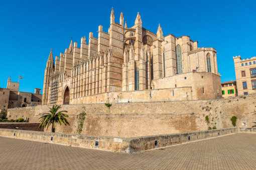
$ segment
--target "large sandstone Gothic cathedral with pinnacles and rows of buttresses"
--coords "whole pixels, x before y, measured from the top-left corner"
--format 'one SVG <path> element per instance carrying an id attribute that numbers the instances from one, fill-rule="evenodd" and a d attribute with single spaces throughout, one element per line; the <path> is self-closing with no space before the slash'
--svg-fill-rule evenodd
<path id="1" fill-rule="evenodd" d="M 163 35 L 142 26 L 138 12 L 127 27 L 121 12 L 110 27 L 89 33 L 80 48 L 69 48 L 53 58 L 50 52 L 44 75 L 43 104 L 192 100 L 221 97 L 216 49 L 198 47 L 189 36 Z"/>

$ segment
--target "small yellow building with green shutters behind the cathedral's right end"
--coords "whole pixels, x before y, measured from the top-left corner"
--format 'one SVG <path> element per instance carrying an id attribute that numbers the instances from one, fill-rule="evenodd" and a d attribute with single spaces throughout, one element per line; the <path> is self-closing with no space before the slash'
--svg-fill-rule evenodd
<path id="1" fill-rule="evenodd" d="M 226 81 L 221 83 L 222 97 L 236 96 L 237 86 L 236 81 Z"/>

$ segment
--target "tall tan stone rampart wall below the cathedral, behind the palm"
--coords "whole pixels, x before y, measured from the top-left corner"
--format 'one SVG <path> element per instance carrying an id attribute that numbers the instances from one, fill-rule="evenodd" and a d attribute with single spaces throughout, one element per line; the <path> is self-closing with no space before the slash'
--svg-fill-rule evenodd
<path id="1" fill-rule="evenodd" d="M 252 127 L 256 120 L 253 115 L 255 98 L 255 95 L 246 95 L 215 100 L 113 103 L 110 107 L 105 104 L 62 105 L 61 110 L 68 111 L 71 125 L 57 125 L 56 132 L 77 133 L 77 115 L 83 111 L 86 115 L 81 134 L 86 135 L 135 137 L 200 131 L 208 126 L 228 128 L 232 127 L 232 116 L 237 117 L 237 127 Z M 13 108 L 8 109 L 7 117 L 27 117 L 29 122 L 39 122 L 40 113 L 48 110 L 46 105 Z M 205 121 L 206 115 L 209 123 Z"/>

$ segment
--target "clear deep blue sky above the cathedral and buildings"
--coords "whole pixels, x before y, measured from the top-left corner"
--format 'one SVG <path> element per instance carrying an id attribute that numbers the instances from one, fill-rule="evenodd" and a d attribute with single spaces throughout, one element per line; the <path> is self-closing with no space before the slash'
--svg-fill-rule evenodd
<path id="1" fill-rule="evenodd" d="M 111 7 L 115 22 L 120 12 L 130 27 L 140 12 L 143 27 L 164 36 L 189 35 L 198 47 L 217 49 L 221 82 L 234 80 L 232 56 L 256 56 L 255 0 L 2 0 L 0 3 L 0 87 L 7 79 L 18 81 L 20 91 L 43 88 L 46 61 L 68 48 L 71 37 L 78 42 L 89 32 L 97 37 L 98 25 L 107 32 Z"/>

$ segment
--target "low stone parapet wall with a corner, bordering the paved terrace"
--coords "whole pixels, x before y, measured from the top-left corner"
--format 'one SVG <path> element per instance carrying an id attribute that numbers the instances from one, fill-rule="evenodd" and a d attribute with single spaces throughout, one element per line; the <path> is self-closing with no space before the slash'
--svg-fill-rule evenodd
<path id="1" fill-rule="evenodd" d="M 44 142 L 52 142 L 71 146 L 120 151 L 138 152 L 153 148 L 170 146 L 173 144 L 195 141 L 208 137 L 215 137 L 237 132 L 253 132 L 256 128 L 232 127 L 215 130 L 195 131 L 187 133 L 163 134 L 142 137 L 112 137 L 112 136 L 91 136 L 82 134 L 65 134 L 41 131 L 14 130 L 0 128 L 0 136 L 30 139 Z"/>

